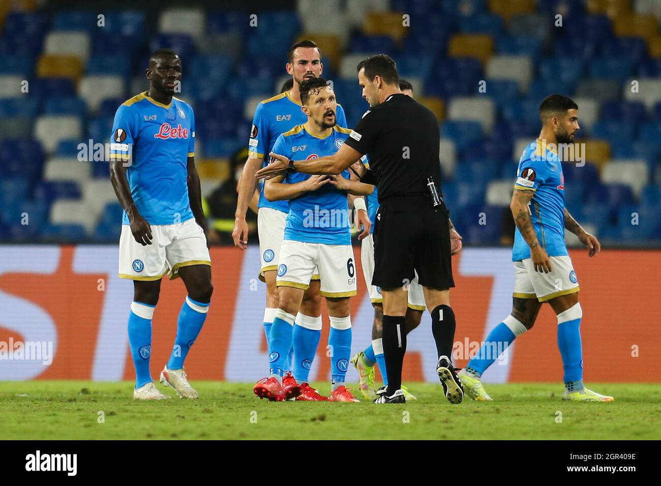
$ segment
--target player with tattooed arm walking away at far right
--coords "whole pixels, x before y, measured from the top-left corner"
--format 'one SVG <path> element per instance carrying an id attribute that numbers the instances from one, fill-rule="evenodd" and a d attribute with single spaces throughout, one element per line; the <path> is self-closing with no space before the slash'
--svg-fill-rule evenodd
<path id="1" fill-rule="evenodd" d="M 578 303 L 578 278 L 564 244 L 564 230 L 568 229 L 588 247 L 590 257 L 601 249 L 596 237 L 586 233 L 564 207 L 559 154 L 568 152 L 561 147 L 572 143 L 579 130 L 578 106 L 564 96 L 551 95 L 541 102 L 539 117 L 541 133 L 521 155 L 510 204 L 516 222 L 512 313 L 489 333 L 477 356 L 459 372 L 459 379 L 473 399 L 491 401 L 480 380 L 483 372 L 516 337 L 533 327 L 541 304 L 548 302 L 558 319 L 563 400 L 613 401 L 613 397 L 583 385 L 579 329 L 583 313 Z"/>

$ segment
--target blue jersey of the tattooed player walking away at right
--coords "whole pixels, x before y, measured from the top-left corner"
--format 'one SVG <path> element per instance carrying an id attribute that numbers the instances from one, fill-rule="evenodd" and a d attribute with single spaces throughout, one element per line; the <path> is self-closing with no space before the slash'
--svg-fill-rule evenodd
<path id="1" fill-rule="evenodd" d="M 535 192 L 528 205 L 537 239 L 549 257 L 568 255 L 564 244 L 564 175 L 556 151 L 541 140 L 525 147 L 514 188 Z M 514 233 L 512 261 L 530 258 L 530 247 L 518 228 Z"/>

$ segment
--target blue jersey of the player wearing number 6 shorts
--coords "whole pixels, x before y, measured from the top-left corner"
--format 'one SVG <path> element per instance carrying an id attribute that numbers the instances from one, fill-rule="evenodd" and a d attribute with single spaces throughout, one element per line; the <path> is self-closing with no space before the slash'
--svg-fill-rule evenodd
<path id="1" fill-rule="evenodd" d="M 303 125 L 297 125 L 278 137 L 274 151 L 290 160 L 312 160 L 332 155 L 344 143 L 351 130 L 334 127 L 327 138 L 318 138 L 307 133 Z M 284 182 L 295 184 L 311 175 L 299 172 L 287 173 Z M 342 171 L 349 179 L 349 171 Z M 349 206 L 346 192 L 332 184 L 325 184 L 315 191 L 305 192 L 288 202 L 285 223 L 285 240 L 327 245 L 351 245 Z"/>

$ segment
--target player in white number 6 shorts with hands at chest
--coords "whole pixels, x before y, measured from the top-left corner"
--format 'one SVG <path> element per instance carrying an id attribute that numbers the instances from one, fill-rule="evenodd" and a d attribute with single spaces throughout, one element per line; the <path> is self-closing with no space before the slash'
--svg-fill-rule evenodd
<path id="1" fill-rule="evenodd" d="M 300 88 L 307 122 L 280 135 L 273 151 L 293 160 L 311 160 L 335 153 L 351 130 L 336 126 L 334 92 L 321 77 L 303 81 Z M 292 172 L 266 181 L 266 197 L 288 200 L 289 213 L 278 261 L 279 303 L 269 334 L 270 377 L 254 386 L 258 397 L 272 401 L 288 398 L 282 378 L 293 340 L 294 378 L 301 385 L 297 399 L 327 400 L 308 384 L 310 366 L 321 336 L 321 322 L 295 321 L 303 292 L 318 268 L 321 296 L 326 298 L 331 321 L 330 400 L 357 401 L 345 385 L 351 350 L 349 297 L 356 295 L 356 267 L 346 194 L 370 194 L 373 186 L 348 178 L 349 172 L 345 170 L 332 177 Z"/>

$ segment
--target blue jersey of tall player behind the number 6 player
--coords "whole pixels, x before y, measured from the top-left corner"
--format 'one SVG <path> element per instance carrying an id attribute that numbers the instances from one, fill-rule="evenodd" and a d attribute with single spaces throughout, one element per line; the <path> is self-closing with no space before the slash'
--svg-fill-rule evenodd
<path id="1" fill-rule="evenodd" d="M 264 161 L 262 167 L 265 167 L 269 161 L 268 154 L 273 151 L 273 146 L 280 134 L 307 122 L 307 115 L 301 108 L 302 105 L 293 101 L 289 91 L 260 102 L 254 111 L 253 128 L 248 142 L 248 156 L 262 159 Z M 346 128 L 344 108 L 339 104 L 335 118 L 338 126 Z M 278 155 L 284 154 L 278 153 Z M 289 212 L 287 201 L 269 201 L 264 197 L 264 182 L 260 184 L 258 207 L 273 208 L 284 213 Z"/>

